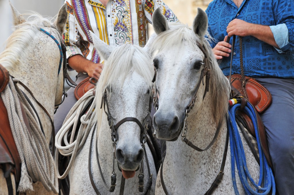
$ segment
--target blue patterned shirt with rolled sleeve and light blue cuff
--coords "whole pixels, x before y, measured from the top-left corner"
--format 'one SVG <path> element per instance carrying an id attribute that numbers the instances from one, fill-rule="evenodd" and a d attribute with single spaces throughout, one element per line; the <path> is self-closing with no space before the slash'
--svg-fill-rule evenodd
<path id="1" fill-rule="evenodd" d="M 224 40 L 226 28 L 235 18 L 270 26 L 280 49 L 253 36 L 242 37 L 245 75 L 294 78 L 294 0 L 243 0 L 239 8 L 231 0 L 214 0 L 209 4 L 206 13 L 208 32 L 216 41 L 211 43 L 211 47 Z M 225 75 L 229 75 L 230 57 L 224 57 L 220 68 Z M 238 36 L 233 55 L 232 74 L 234 73 L 240 74 Z"/>

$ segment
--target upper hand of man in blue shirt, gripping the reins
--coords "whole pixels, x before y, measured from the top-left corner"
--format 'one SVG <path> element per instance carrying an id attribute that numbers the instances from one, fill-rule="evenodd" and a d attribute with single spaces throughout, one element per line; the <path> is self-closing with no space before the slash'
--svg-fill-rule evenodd
<path id="1" fill-rule="evenodd" d="M 245 22 L 244 20 L 234 19 L 227 26 L 227 33 L 229 37 L 238 35 L 240 37 L 250 36 L 250 30 L 254 27 L 252 23 Z"/>

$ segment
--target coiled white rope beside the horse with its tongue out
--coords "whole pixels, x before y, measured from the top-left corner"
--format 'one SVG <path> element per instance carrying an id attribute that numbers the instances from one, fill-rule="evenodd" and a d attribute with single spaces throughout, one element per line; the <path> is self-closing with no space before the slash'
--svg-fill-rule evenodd
<path id="1" fill-rule="evenodd" d="M 55 165 L 57 167 L 57 170 L 59 170 L 58 167 L 58 158 L 59 153 L 63 156 L 71 156 L 71 159 L 69 161 L 69 165 L 66 168 L 64 174 L 60 175 L 58 172 L 58 178 L 64 179 L 68 174 L 69 170 L 71 169 L 71 166 L 73 165 L 73 162 L 76 158 L 76 154 L 78 153 L 79 149 L 83 146 L 85 143 L 88 134 L 90 133 L 91 127 L 97 122 L 96 119 L 96 112 L 94 112 L 96 107 L 96 96 L 93 95 L 93 90 L 89 90 L 87 93 L 85 93 L 81 99 L 79 99 L 74 107 L 71 108 L 69 113 L 67 114 L 64 123 L 61 127 L 61 129 L 58 131 L 58 133 L 55 136 Z M 76 140 L 74 140 L 75 134 L 76 134 L 76 128 L 77 124 L 79 122 L 78 118 L 81 112 L 84 110 L 84 108 L 87 106 L 87 104 L 93 100 L 93 103 L 91 104 L 88 112 L 84 114 L 81 117 L 81 126 L 78 130 L 78 134 L 76 136 Z M 71 131 L 71 138 L 68 142 L 67 135 L 69 133 L 69 130 L 71 129 L 71 126 L 73 126 Z M 65 146 L 62 146 L 62 141 L 64 142 Z"/>

